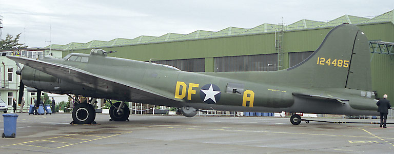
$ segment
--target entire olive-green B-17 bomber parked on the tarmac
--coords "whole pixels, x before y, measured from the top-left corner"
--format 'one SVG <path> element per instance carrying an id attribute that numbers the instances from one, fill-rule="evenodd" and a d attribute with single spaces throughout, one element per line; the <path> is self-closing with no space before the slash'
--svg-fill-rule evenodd
<path id="1" fill-rule="evenodd" d="M 333 28 L 306 60 L 288 69 L 269 72 L 186 72 L 175 67 L 107 56 L 70 53 L 63 59 L 7 57 L 24 64 L 21 89 L 111 99 L 110 117 L 126 121 L 124 102 L 171 106 L 186 117 L 198 110 L 303 112 L 378 115 L 371 86 L 370 52 L 364 32 L 342 24 Z M 19 94 L 21 100 L 22 94 Z M 93 103 L 74 107 L 76 124 L 95 119 Z M 293 114 L 292 124 L 300 124 Z"/>

